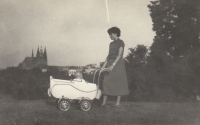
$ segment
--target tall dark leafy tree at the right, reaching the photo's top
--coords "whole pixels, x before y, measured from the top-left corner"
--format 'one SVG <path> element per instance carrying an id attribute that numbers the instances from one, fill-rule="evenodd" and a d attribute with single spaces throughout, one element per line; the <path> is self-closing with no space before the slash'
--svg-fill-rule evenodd
<path id="1" fill-rule="evenodd" d="M 156 32 L 146 67 L 152 93 L 161 98 L 169 92 L 175 98 L 195 96 L 198 81 L 188 60 L 200 46 L 200 1 L 156 0 L 148 7 Z"/>

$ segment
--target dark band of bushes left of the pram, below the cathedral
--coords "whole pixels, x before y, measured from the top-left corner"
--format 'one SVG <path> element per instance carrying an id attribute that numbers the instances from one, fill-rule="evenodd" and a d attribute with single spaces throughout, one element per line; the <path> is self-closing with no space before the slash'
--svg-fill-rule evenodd
<path id="1" fill-rule="evenodd" d="M 22 70 L 9 67 L 0 74 L 1 92 L 20 100 L 46 99 L 50 76 L 70 79 L 64 72 L 51 70 L 43 73 L 39 68 Z"/>

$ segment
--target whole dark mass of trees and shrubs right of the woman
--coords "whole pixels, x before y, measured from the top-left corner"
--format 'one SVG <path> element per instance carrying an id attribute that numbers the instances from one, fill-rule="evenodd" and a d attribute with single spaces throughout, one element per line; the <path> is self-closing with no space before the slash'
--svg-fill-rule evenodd
<path id="1" fill-rule="evenodd" d="M 200 92 L 200 1 L 156 0 L 148 8 L 156 36 L 126 57 L 130 100 L 193 101 Z"/>

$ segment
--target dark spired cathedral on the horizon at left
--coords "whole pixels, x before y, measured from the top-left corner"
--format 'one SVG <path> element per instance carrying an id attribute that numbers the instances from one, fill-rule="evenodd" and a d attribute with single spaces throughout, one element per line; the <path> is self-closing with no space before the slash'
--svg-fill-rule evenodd
<path id="1" fill-rule="evenodd" d="M 18 65 L 21 69 L 32 69 L 32 68 L 40 68 L 43 72 L 47 71 L 48 65 L 47 65 L 47 52 L 46 48 L 43 52 L 42 47 L 39 50 L 37 50 L 37 55 L 34 57 L 33 50 L 32 50 L 32 56 L 26 57 L 23 62 L 19 63 Z"/>

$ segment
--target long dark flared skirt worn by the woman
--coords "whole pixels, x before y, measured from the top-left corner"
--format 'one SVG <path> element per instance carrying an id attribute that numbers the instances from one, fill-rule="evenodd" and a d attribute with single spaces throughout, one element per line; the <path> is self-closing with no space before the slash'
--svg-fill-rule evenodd
<path id="1" fill-rule="evenodd" d="M 111 66 L 115 59 L 109 59 L 107 66 Z M 120 58 L 111 72 L 106 72 L 103 80 L 103 94 L 120 96 L 129 94 L 126 69 L 123 58 Z"/>

